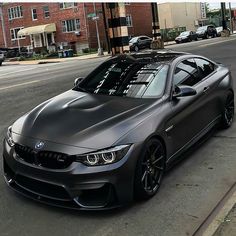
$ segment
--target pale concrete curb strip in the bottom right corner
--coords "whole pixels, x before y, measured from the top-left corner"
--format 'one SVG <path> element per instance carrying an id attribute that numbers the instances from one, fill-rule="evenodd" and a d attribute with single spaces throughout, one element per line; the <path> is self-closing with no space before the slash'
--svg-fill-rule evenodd
<path id="1" fill-rule="evenodd" d="M 212 236 L 220 225 L 224 222 L 225 217 L 229 214 L 236 204 L 236 183 L 229 189 L 211 214 L 205 219 L 194 236 Z"/>

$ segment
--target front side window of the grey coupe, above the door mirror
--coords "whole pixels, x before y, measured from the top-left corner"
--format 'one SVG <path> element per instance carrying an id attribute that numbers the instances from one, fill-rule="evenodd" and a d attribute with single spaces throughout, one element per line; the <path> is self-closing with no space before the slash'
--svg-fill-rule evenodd
<path id="1" fill-rule="evenodd" d="M 194 86 L 199 82 L 198 70 L 193 59 L 180 62 L 174 73 L 174 85 Z"/>

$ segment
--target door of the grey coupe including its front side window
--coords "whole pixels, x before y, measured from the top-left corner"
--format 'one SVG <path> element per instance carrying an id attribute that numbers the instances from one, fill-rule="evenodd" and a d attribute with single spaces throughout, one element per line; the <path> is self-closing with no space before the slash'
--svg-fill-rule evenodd
<path id="1" fill-rule="evenodd" d="M 199 77 L 193 58 L 180 62 L 173 74 L 173 88 L 180 85 L 191 86 L 196 95 L 173 98 L 170 101 L 171 116 L 166 123 L 166 133 L 171 143 L 171 157 L 187 147 L 207 125 L 205 85 Z"/>

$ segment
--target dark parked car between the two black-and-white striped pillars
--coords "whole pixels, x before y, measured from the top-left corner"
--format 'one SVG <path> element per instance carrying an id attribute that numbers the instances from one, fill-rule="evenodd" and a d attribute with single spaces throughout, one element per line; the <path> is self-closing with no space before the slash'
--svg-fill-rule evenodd
<path id="1" fill-rule="evenodd" d="M 152 43 L 152 38 L 148 36 L 137 36 L 129 41 L 129 46 L 131 51 L 138 52 L 140 49 L 150 48 Z"/>

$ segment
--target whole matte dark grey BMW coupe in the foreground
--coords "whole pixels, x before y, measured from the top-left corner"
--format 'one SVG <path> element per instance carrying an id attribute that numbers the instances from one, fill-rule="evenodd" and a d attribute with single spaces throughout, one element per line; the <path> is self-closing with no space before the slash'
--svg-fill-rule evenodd
<path id="1" fill-rule="evenodd" d="M 172 51 L 113 57 L 8 128 L 7 184 L 40 202 L 108 209 L 158 191 L 164 171 L 231 126 L 228 68 Z"/>

